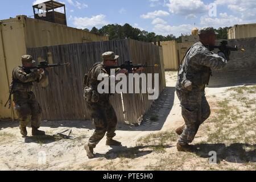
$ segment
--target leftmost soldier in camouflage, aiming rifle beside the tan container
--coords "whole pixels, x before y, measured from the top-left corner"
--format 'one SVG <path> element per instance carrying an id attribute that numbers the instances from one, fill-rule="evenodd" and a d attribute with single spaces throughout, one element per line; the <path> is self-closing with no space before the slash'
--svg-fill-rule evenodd
<path id="1" fill-rule="evenodd" d="M 30 55 L 22 56 L 22 66 L 32 67 L 35 61 Z M 15 110 L 19 117 L 20 134 L 27 136 L 27 125 L 31 121 L 32 135 L 45 135 L 44 131 L 38 130 L 41 123 L 42 109 L 36 101 L 32 92 L 32 82 L 42 82 L 46 80 L 43 69 L 25 71 L 22 67 L 14 68 L 13 83 L 11 93 Z"/>

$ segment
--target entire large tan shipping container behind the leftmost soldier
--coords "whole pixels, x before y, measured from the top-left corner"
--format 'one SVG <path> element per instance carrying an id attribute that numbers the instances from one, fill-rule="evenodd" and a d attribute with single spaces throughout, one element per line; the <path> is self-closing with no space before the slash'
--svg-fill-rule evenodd
<path id="1" fill-rule="evenodd" d="M 7 109 L 4 105 L 9 97 L 13 68 L 21 64 L 20 57 L 27 53 L 27 48 L 108 40 L 106 36 L 24 15 L 1 20 L 0 30 L 0 119 L 15 118 L 13 107 Z"/>

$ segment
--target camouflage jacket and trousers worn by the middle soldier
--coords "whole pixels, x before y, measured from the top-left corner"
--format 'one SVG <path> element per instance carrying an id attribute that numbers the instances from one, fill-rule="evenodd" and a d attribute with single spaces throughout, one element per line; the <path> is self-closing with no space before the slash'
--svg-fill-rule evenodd
<path id="1" fill-rule="evenodd" d="M 115 137 L 115 129 L 117 127 L 117 116 L 113 109 L 113 106 L 109 102 L 108 93 L 99 94 L 97 87 L 100 81 L 97 80 L 100 74 L 110 75 L 104 68 L 103 63 L 97 63 L 93 66 L 92 70 L 88 74 L 88 85 L 97 94 L 97 101 L 92 102 L 86 100 L 86 106 L 91 113 L 93 124 L 96 127 L 92 137 L 89 139 L 88 145 L 95 148 L 98 142 L 104 137 L 105 133 L 107 138 L 112 139 Z"/>

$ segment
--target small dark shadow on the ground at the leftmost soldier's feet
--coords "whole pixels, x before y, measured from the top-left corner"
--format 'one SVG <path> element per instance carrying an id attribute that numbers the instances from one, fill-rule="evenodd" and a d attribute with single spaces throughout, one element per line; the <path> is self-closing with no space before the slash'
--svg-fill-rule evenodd
<path id="1" fill-rule="evenodd" d="M 24 137 L 25 143 L 48 144 L 48 143 L 56 142 L 58 140 L 61 140 L 61 138 L 57 136 L 52 136 L 52 135 Z"/>

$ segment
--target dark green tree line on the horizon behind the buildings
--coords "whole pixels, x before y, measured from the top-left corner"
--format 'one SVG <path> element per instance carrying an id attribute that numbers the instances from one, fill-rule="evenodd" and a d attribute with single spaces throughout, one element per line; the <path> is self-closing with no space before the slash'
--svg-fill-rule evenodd
<path id="1" fill-rule="evenodd" d="M 227 30 L 230 27 L 218 28 L 217 39 L 228 39 Z M 109 40 L 126 39 L 131 38 L 134 40 L 139 40 L 143 42 L 162 42 L 169 40 L 176 40 L 178 43 L 181 42 L 181 36 L 177 37 L 169 34 L 167 36 L 156 35 L 154 32 L 147 32 L 140 30 L 139 28 L 132 27 L 130 24 L 126 23 L 123 26 L 119 24 L 108 24 L 98 29 L 93 27 L 92 30 L 85 28 L 84 30 L 92 32 L 93 34 L 109 36 Z"/>

